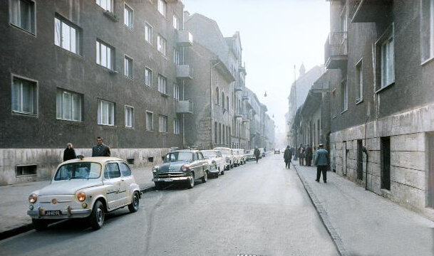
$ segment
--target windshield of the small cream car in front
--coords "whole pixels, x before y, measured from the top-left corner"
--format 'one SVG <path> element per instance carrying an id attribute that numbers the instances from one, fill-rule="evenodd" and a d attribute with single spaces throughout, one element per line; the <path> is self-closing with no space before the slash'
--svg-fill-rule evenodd
<path id="1" fill-rule="evenodd" d="M 55 181 L 71 180 L 73 178 L 99 178 L 101 175 L 100 164 L 91 162 L 78 162 L 71 164 L 63 164 L 60 166 L 56 175 Z"/>

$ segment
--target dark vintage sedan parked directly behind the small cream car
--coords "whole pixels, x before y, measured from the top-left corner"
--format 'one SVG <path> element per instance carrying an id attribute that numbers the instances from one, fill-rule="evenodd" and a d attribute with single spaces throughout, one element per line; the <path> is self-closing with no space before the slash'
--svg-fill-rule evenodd
<path id="1" fill-rule="evenodd" d="M 156 188 L 165 187 L 166 183 L 185 183 L 188 188 L 195 186 L 200 178 L 207 182 L 210 164 L 202 152 L 192 149 L 180 149 L 166 154 L 164 162 L 153 167 L 153 182 Z"/>

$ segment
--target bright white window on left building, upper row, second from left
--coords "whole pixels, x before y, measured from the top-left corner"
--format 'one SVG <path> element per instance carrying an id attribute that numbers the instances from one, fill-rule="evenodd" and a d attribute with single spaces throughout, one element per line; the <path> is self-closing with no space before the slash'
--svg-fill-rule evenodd
<path id="1" fill-rule="evenodd" d="M 80 54 L 81 29 L 73 26 L 72 23 L 62 19 L 54 18 L 54 44 L 72 53 Z"/>

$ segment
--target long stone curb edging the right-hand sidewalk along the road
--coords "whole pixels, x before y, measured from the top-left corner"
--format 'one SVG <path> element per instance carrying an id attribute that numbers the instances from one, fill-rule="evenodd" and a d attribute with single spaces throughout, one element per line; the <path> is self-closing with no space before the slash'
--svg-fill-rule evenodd
<path id="1" fill-rule="evenodd" d="M 299 170 L 296 168 L 294 164 L 291 164 L 294 166 L 294 169 L 299 176 L 301 182 L 303 183 L 304 189 L 306 190 L 307 194 L 309 195 L 309 198 L 311 199 L 312 204 L 315 206 L 316 212 L 318 213 L 319 217 L 321 218 L 321 222 L 324 224 L 324 227 L 327 230 L 327 233 L 329 233 L 331 240 L 333 240 L 334 245 L 336 246 L 336 249 L 339 252 L 339 255 L 341 256 L 350 256 L 350 252 L 346 250 L 346 247 L 343 245 L 341 236 L 339 233 L 337 233 L 336 228 L 334 228 L 333 224 L 331 224 L 331 221 L 329 219 L 329 215 L 326 212 L 326 209 L 321 205 L 321 202 L 316 198 L 316 195 L 314 191 L 312 191 L 311 187 L 309 186 L 309 183 L 306 181 L 304 176 L 299 174 Z"/>

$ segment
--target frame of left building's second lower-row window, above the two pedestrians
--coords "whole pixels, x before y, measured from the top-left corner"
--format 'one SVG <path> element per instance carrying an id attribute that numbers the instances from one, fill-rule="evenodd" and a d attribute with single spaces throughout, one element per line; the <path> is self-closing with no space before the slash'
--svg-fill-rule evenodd
<path id="1" fill-rule="evenodd" d="M 63 105 L 64 105 L 64 98 L 63 95 L 65 93 L 69 93 L 71 94 L 71 119 L 65 118 L 65 114 L 63 111 Z M 75 105 L 73 102 L 73 95 L 76 95 L 78 97 L 78 99 L 80 100 L 78 102 L 78 105 L 80 106 L 79 110 L 75 110 Z M 58 102 L 58 100 L 61 99 L 61 102 Z M 61 107 L 61 109 L 59 110 L 59 106 Z M 57 88 L 56 90 L 56 119 L 58 120 L 63 120 L 63 121 L 70 121 L 70 122 L 83 122 L 83 109 L 84 109 L 84 95 L 78 92 L 73 92 L 71 90 L 64 90 L 62 88 Z M 74 119 L 75 113 L 78 112 L 79 113 L 79 118 L 78 119 Z"/>

